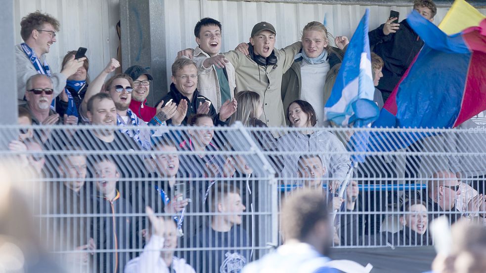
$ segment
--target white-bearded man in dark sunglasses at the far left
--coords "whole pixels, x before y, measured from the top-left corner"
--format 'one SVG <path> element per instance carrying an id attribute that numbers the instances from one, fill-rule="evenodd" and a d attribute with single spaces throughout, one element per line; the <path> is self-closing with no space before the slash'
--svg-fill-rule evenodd
<path id="1" fill-rule="evenodd" d="M 32 124 L 77 124 L 78 118 L 75 116 L 59 117 L 50 105 L 54 98 L 54 89 L 51 78 L 43 74 L 36 74 L 27 80 L 25 99 L 32 116 Z"/>

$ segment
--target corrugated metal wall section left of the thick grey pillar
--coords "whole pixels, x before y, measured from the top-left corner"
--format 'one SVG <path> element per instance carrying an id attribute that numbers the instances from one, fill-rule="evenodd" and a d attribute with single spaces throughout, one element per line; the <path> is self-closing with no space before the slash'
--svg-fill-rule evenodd
<path id="1" fill-rule="evenodd" d="M 16 43 L 21 43 L 20 20 L 30 12 L 41 10 L 61 23 L 57 42 L 47 54 L 52 71 L 59 72 L 69 50 L 88 48 L 89 76 L 94 78 L 110 57 L 116 57 L 120 20 L 119 0 L 14 0 Z"/>

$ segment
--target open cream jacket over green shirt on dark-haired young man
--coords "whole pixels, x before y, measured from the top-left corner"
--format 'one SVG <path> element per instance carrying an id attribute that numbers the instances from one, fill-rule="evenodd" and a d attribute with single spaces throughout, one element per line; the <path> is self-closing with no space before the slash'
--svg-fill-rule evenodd
<path id="1" fill-rule="evenodd" d="M 199 94 L 211 100 L 216 112 L 219 113 L 221 104 L 224 102 L 221 101 L 220 81 L 218 79 L 218 75 L 216 74 L 216 68 L 214 65 L 209 68 L 205 68 L 203 66 L 204 60 L 206 60 L 209 55 L 202 51 L 199 46 L 194 49 L 193 56 L 193 61 L 197 66 L 197 90 L 199 91 Z M 226 74 L 228 75 L 231 98 L 233 98 L 236 81 L 234 66 L 231 63 L 226 64 Z"/>

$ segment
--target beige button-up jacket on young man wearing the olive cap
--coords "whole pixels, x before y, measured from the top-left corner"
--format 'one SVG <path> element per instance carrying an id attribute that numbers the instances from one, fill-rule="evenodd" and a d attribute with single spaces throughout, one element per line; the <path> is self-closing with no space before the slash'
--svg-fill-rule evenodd
<path id="1" fill-rule="evenodd" d="M 234 66 L 236 92 L 250 90 L 260 94 L 264 110 L 260 119 L 267 126 L 286 126 L 280 86 L 283 74 L 289 70 L 301 47 L 302 42 L 298 41 L 285 48 L 274 49 L 277 64 L 266 68 L 239 51 L 223 53 Z"/>

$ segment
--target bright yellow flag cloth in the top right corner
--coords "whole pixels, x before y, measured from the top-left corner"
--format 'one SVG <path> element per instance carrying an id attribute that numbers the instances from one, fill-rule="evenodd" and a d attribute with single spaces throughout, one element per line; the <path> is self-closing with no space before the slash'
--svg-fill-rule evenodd
<path id="1" fill-rule="evenodd" d="M 477 27 L 486 16 L 465 0 L 455 0 L 442 19 L 439 28 L 448 35 L 459 33 L 469 27 Z"/>

